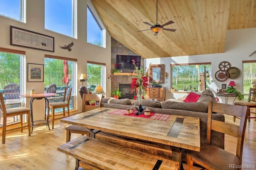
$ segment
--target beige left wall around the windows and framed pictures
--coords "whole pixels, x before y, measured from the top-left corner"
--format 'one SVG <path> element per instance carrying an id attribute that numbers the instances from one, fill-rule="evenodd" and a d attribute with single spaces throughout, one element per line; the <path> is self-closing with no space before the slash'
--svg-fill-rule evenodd
<path id="1" fill-rule="evenodd" d="M 77 89 L 82 85 L 82 82 L 79 81 L 80 74 L 87 72 L 87 61 L 106 63 L 106 74 L 111 72 L 110 34 L 106 32 L 106 48 L 87 43 L 87 0 L 78 0 L 78 39 L 70 38 L 68 36 L 44 29 L 44 0 L 27 0 L 26 14 L 26 23 L 0 16 L 0 47 L 26 51 L 26 63 L 44 64 L 45 54 L 78 59 L 76 77 Z M 48 36 L 53 36 L 55 40 L 54 53 L 10 45 L 10 25 Z M 63 46 L 71 42 L 74 42 L 72 51 L 67 51 L 59 47 L 59 45 Z M 36 93 L 44 93 L 43 82 L 26 82 L 25 86 L 26 93 L 30 93 L 30 89 L 35 89 Z M 105 92 L 107 97 L 110 97 L 111 95 L 110 86 L 110 81 L 106 81 Z M 74 94 L 76 95 L 74 97 L 74 108 L 77 108 L 79 111 L 81 111 L 82 99 L 80 96 L 77 97 L 78 91 L 74 91 Z M 29 99 L 26 100 L 26 107 L 29 107 L 28 100 Z M 42 101 L 38 102 L 38 104 L 35 103 L 37 107 L 34 113 L 36 113 L 36 111 L 42 110 L 40 103 L 42 104 Z M 38 114 L 38 117 L 42 116 L 43 114 Z"/>

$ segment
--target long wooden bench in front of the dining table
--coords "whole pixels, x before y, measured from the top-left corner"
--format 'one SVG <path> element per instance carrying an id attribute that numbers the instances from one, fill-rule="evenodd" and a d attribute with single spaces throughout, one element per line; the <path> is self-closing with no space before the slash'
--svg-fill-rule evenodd
<path id="1" fill-rule="evenodd" d="M 58 147 L 76 159 L 76 168 L 95 170 L 178 170 L 179 162 L 80 136 Z"/>

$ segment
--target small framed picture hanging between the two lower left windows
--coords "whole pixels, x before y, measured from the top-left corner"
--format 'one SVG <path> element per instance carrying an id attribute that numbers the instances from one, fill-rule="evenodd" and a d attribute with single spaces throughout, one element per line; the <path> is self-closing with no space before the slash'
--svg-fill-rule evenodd
<path id="1" fill-rule="evenodd" d="M 28 63 L 28 82 L 44 81 L 44 65 Z"/>

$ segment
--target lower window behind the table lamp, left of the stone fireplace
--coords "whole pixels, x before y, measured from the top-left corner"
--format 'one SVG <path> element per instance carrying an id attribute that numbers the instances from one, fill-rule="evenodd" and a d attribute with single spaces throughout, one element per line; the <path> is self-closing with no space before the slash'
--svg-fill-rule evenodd
<path id="1" fill-rule="evenodd" d="M 97 85 L 101 85 L 105 91 L 106 87 L 106 64 L 87 61 L 87 88 L 93 92 Z"/>

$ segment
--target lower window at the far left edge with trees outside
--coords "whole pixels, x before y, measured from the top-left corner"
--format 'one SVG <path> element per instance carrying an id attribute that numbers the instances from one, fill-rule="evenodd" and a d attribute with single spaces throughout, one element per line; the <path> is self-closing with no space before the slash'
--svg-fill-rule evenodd
<path id="1" fill-rule="evenodd" d="M 6 52 L 7 51 L 7 52 Z M 22 101 L 18 97 L 24 93 L 24 51 L 0 48 L 0 92 L 3 93 L 6 109 L 21 107 Z M 17 53 L 13 53 L 17 52 Z M 8 93 L 7 89 L 15 87 L 13 92 Z M 6 91 L 6 94 L 4 93 Z M 9 117 L 7 123 L 18 121 L 20 116 Z M 23 120 L 26 120 L 25 117 Z M 1 119 L 2 124 L 2 119 Z"/>

